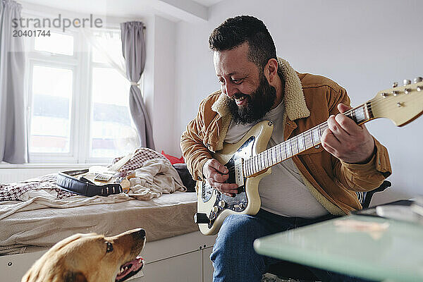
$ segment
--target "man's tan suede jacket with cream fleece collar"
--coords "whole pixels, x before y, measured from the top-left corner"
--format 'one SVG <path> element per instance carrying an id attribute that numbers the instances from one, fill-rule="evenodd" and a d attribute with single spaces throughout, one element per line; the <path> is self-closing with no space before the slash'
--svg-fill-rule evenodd
<path id="1" fill-rule="evenodd" d="M 319 75 L 296 73 L 287 61 L 278 59 L 278 74 L 285 80 L 283 137 L 287 140 L 338 114 L 337 105 L 350 105 L 345 89 Z M 204 99 L 196 118 L 188 123 L 180 147 L 195 180 L 202 180 L 202 166 L 212 152 L 223 148 L 231 123 L 229 98 L 221 91 Z M 355 191 L 379 187 L 391 175 L 388 151 L 376 139 L 376 154 L 367 164 L 340 161 L 317 145 L 293 157 L 309 191 L 331 214 L 361 209 Z M 283 197 L 283 195 L 281 195 Z"/>

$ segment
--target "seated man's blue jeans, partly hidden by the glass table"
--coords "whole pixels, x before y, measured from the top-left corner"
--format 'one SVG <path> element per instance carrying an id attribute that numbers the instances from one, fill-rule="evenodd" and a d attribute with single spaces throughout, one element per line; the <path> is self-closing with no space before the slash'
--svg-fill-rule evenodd
<path id="1" fill-rule="evenodd" d="M 269 265 L 281 261 L 257 254 L 252 247 L 255 239 L 333 217 L 329 215 L 317 219 L 302 219 L 279 216 L 263 209 L 260 209 L 255 216 L 245 214 L 228 216 L 223 221 L 210 255 L 214 266 L 213 281 L 262 281 L 262 275 L 266 273 Z M 305 267 L 321 281 L 365 281 L 361 278 Z"/>

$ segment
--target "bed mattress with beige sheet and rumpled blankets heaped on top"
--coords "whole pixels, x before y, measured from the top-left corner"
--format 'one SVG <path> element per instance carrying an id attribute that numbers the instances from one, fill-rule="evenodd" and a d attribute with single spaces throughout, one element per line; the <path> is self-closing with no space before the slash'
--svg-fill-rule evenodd
<path id="1" fill-rule="evenodd" d="M 173 166 L 159 152 L 140 148 L 123 170 L 135 172 L 129 192 L 107 197 L 63 190 L 57 173 L 0 184 L 0 255 L 39 250 L 74 233 L 114 235 L 141 226 L 147 240 L 160 240 L 197 230 L 197 197 L 185 193 L 195 191 L 195 181 L 185 164 Z"/>

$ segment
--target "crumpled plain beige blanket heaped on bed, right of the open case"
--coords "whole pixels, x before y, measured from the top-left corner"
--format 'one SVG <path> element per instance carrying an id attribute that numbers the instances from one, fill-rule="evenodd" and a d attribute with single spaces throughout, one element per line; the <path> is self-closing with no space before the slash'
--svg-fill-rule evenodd
<path id="1" fill-rule="evenodd" d="M 178 172 L 167 159 L 145 161 L 142 167 L 135 169 L 135 177 L 130 178 L 129 182 L 128 195 L 138 200 L 151 200 L 162 194 L 187 190 Z"/>

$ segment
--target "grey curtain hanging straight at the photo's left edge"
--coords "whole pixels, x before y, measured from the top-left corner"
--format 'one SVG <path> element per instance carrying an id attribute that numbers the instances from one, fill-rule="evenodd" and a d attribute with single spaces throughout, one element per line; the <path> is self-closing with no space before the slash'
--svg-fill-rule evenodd
<path id="1" fill-rule="evenodd" d="M 13 18 L 22 6 L 0 0 L 0 161 L 27 162 L 27 135 L 23 92 L 25 53 L 23 37 L 13 37 Z"/>

